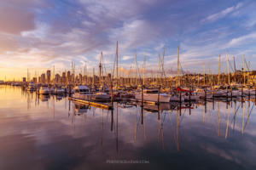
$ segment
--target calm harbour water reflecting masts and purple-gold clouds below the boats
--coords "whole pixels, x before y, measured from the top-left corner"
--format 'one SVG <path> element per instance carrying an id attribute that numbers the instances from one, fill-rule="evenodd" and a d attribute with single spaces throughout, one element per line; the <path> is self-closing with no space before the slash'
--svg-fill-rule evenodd
<path id="1" fill-rule="evenodd" d="M 256 169 L 253 102 L 114 106 L 0 86 L 0 169 Z"/>

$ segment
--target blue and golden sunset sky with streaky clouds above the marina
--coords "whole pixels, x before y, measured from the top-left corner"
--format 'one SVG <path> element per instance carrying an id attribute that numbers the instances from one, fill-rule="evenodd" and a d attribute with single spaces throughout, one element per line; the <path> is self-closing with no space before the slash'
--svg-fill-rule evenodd
<path id="1" fill-rule="evenodd" d="M 119 67 L 156 70 L 165 49 L 164 68 L 183 71 L 241 69 L 242 55 L 256 70 L 256 1 L 223 0 L 2 0 L 0 1 L 0 80 L 98 70 L 101 52 L 113 69 L 116 42 Z M 248 65 L 248 64 L 247 64 Z"/>

